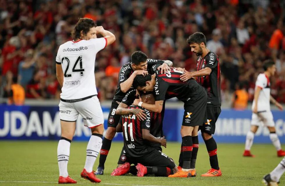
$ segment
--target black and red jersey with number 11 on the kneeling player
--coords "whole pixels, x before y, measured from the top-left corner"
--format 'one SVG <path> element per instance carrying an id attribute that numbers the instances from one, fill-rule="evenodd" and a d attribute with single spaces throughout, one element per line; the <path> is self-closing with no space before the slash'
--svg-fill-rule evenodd
<path id="1" fill-rule="evenodd" d="M 151 151 L 149 142 L 144 140 L 142 135 L 142 129 L 150 130 L 151 128 L 151 115 L 147 109 L 140 106 L 130 105 L 128 108 L 140 108 L 147 115 L 143 121 L 140 121 L 133 114 L 122 116 L 124 149 L 131 157 L 141 157 Z"/>

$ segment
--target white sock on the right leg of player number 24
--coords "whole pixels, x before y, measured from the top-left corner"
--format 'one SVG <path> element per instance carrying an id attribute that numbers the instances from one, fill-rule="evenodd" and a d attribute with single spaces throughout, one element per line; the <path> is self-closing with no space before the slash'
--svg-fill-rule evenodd
<path id="1" fill-rule="evenodd" d="M 102 135 L 92 134 L 86 149 L 86 161 L 84 169 L 87 172 L 92 172 L 95 160 L 100 152 L 102 146 Z"/>

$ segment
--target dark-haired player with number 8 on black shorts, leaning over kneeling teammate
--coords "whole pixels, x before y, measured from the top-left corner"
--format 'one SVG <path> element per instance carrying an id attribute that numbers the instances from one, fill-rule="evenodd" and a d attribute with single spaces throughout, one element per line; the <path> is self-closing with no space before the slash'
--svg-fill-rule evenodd
<path id="1" fill-rule="evenodd" d="M 97 175 L 104 174 L 104 164 L 111 148 L 112 140 L 116 134 L 116 126 L 119 123 L 120 115 L 116 114 L 116 109 L 127 92 L 130 91 L 133 79 L 137 75 L 147 75 L 152 65 L 160 64 L 161 71 L 169 69 L 172 62 L 169 60 L 148 59 L 147 55 L 141 51 L 136 51 L 131 55 L 131 62 L 123 65 L 119 72 L 119 81 L 114 99 L 111 104 L 108 116 L 108 128 L 103 139 L 102 149 L 100 151 L 99 165 L 96 170 Z"/>

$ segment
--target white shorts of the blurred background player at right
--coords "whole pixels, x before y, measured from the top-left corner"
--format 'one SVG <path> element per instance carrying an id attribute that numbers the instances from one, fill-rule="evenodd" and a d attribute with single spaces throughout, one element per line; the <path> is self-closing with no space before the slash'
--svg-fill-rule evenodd
<path id="1" fill-rule="evenodd" d="M 275 123 L 271 111 L 252 113 L 251 125 L 274 127 Z"/>

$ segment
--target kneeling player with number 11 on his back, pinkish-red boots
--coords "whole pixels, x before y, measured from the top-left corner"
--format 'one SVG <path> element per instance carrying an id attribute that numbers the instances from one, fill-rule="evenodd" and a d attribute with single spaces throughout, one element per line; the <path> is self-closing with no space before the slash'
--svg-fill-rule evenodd
<path id="1" fill-rule="evenodd" d="M 137 164 L 137 176 L 155 174 L 156 176 L 169 176 L 177 171 L 173 160 L 167 155 L 152 147 L 149 142 L 166 147 L 164 137 L 157 138 L 150 134 L 150 112 L 140 106 L 131 105 L 129 109 L 142 109 L 146 119 L 140 121 L 134 114 L 123 115 L 122 124 L 118 124 L 116 131 L 123 132 L 126 163 L 115 169 L 112 175 L 127 174 L 131 164 Z"/>

